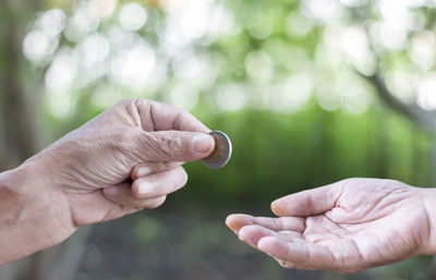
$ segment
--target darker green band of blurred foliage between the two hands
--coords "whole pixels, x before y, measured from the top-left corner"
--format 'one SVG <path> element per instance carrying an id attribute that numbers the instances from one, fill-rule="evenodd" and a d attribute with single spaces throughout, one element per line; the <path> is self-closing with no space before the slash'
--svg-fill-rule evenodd
<path id="1" fill-rule="evenodd" d="M 232 160 L 218 171 L 189 165 L 189 187 L 175 194 L 184 199 L 268 206 L 278 196 L 350 176 L 423 186 L 432 180 L 426 135 L 376 109 L 361 115 L 315 106 L 291 115 L 246 110 L 207 124 L 229 133 Z"/>

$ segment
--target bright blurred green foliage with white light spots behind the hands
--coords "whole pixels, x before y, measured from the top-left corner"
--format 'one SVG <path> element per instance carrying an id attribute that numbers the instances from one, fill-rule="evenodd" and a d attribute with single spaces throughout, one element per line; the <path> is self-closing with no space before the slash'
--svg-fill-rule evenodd
<path id="1" fill-rule="evenodd" d="M 47 71 L 55 136 L 119 98 L 145 97 L 191 110 L 234 145 L 223 170 L 187 165 L 190 187 L 174 200 L 267 204 L 350 176 L 434 183 L 429 135 L 356 74 L 379 71 L 398 98 L 432 109 L 434 2 L 138 3 L 60 2 L 65 12 L 37 16 L 23 48 Z M 34 33 L 56 48 L 26 50 L 26 40 L 46 46 Z M 399 87 L 397 75 L 415 83 Z"/>

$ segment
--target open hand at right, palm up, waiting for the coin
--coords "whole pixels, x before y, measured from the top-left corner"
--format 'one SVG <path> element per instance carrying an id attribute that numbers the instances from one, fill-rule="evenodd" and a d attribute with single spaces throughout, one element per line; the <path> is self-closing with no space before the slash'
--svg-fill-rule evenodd
<path id="1" fill-rule="evenodd" d="M 282 267 L 358 272 L 435 252 L 433 192 L 350 179 L 274 202 L 279 218 L 231 215 L 226 223 Z"/>

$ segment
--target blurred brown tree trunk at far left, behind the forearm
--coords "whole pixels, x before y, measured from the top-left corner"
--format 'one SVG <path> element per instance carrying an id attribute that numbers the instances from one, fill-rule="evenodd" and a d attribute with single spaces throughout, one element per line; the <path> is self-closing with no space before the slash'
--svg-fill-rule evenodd
<path id="1" fill-rule="evenodd" d="M 40 10 L 38 0 L 5 0 L 2 3 L 7 16 L 0 19 L 4 27 L 4 46 L 0 53 L 4 64 L 0 69 L 0 172 L 15 168 L 44 147 L 46 138 L 40 125 L 41 81 L 35 81 L 33 88 L 24 86 L 28 63 L 22 54 L 22 41 L 26 26 Z M 83 244 L 89 228 L 80 230 L 73 238 L 22 260 L 0 268 L 1 280 L 68 280 L 74 279 Z"/>

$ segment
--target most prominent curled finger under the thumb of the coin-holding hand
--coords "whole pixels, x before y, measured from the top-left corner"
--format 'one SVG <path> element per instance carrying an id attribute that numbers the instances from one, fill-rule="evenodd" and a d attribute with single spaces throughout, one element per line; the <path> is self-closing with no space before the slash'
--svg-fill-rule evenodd
<path id="1" fill-rule="evenodd" d="M 178 167 L 136 179 L 132 184 L 132 194 L 137 198 L 158 197 L 175 192 L 186 182 L 186 172 L 182 167 Z"/>

